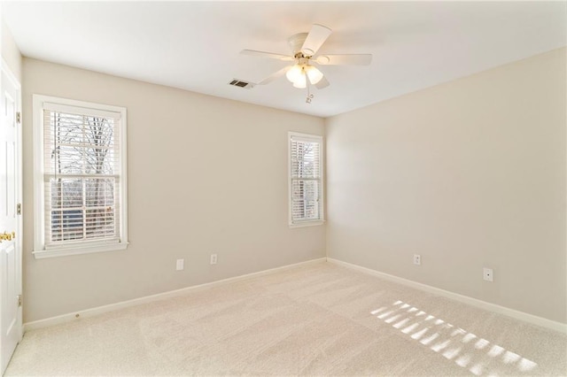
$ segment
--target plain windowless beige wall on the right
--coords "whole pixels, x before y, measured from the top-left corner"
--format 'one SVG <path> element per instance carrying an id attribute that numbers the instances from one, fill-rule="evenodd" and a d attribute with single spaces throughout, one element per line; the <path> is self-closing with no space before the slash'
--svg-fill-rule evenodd
<path id="1" fill-rule="evenodd" d="M 328 256 L 566 323 L 565 54 L 327 119 Z"/>

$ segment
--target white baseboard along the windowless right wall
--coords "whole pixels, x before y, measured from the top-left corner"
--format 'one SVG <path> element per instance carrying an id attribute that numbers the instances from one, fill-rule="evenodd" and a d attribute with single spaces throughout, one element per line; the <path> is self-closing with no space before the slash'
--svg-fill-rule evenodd
<path id="1" fill-rule="evenodd" d="M 561 322 L 555 322 L 555 320 L 545 319 L 542 317 L 538 317 L 532 314 L 528 314 L 525 312 L 519 312 L 514 309 L 509 309 L 504 306 L 500 306 L 497 304 L 487 303 L 482 300 L 478 300 L 477 298 L 472 298 L 470 296 L 463 296 L 459 295 L 458 293 L 450 292 L 445 289 L 439 289 L 435 287 L 431 287 L 426 284 L 422 284 L 416 281 L 409 281 L 408 279 L 403 279 L 398 276 L 390 275 L 388 273 L 381 273 L 376 270 L 372 270 L 367 267 L 362 267 L 361 265 L 353 265 L 351 263 L 343 262 L 342 260 L 334 259 L 334 258 L 327 258 L 327 262 L 333 263 L 335 265 L 343 265 L 348 268 L 352 268 L 353 270 L 360 271 L 362 273 L 369 273 L 371 275 L 377 276 L 387 281 L 396 282 L 411 288 L 420 289 L 429 293 L 433 293 L 435 295 L 444 296 L 454 301 L 458 301 L 463 304 L 470 304 L 471 306 L 478 307 L 480 309 L 484 309 L 490 312 L 497 312 L 499 314 L 503 314 L 514 319 L 520 319 L 524 322 L 531 323 L 532 325 L 537 325 L 540 327 L 546 327 L 551 330 L 558 331 L 563 334 L 567 334 L 567 325 Z"/>

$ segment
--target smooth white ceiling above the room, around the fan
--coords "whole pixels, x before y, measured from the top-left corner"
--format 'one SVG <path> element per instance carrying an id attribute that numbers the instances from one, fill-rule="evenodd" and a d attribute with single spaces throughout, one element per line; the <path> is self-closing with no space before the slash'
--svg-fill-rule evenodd
<path id="1" fill-rule="evenodd" d="M 567 44 L 566 2 L 3 2 L 21 53 L 64 65 L 328 117 Z M 368 66 L 321 66 L 328 88 L 292 88 L 291 53 L 314 23 L 321 53 L 370 53 Z"/>

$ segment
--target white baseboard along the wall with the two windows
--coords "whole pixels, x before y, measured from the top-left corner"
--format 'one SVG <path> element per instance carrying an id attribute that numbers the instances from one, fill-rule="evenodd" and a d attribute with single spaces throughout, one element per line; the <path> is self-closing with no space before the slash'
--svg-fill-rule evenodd
<path id="1" fill-rule="evenodd" d="M 151 303 L 154 301 L 159 301 L 159 300 L 163 300 L 166 298 L 170 298 L 170 297 L 175 297 L 175 296 L 183 296 L 191 291 L 195 291 L 198 289 L 207 289 L 207 288 L 211 288 L 214 286 L 218 286 L 218 285 L 222 285 L 222 284 L 229 284 L 235 281 L 244 281 L 246 279 L 251 279 L 253 277 L 258 277 L 261 275 L 265 275 L 268 273 L 275 273 L 277 271 L 283 271 L 283 270 L 287 270 L 290 268 L 294 268 L 297 267 L 299 265 L 313 265 L 316 263 L 322 263 L 324 261 L 326 261 L 327 258 L 317 258 L 317 259 L 312 259 L 312 260 L 307 260 L 306 262 L 299 262 L 299 263 L 295 263 L 292 265 L 283 265 L 281 267 L 276 267 L 276 268 L 270 268 L 268 270 L 263 270 L 257 273 L 247 273 L 245 275 L 240 275 L 240 276 L 235 276 L 232 278 L 228 278 L 228 279 L 223 279 L 221 281 L 211 281 L 211 282 L 207 282 L 204 284 L 199 284 L 199 285 L 195 285 L 195 286 L 191 286 L 191 287 L 187 287 L 187 288 L 183 288 L 183 289 L 175 289 L 175 290 L 170 290 L 168 292 L 163 292 L 163 293 L 159 293 L 157 295 L 151 295 L 151 296 L 144 296 L 144 297 L 140 297 L 140 298 L 135 298 L 133 300 L 128 300 L 128 301 L 122 301 L 120 303 L 116 303 L 116 304 L 108 304 L 108 305 L 104 305 L 104 306 L 97 306 L 95 308 L 90 308 L 90 309 L 85 309 L 82 311 L 77 311 L 77 312 L 71 312 L 71 313 L 67 313 L 67 314 L 62 314 L 62 315 L 58 315 L 56 317 L 50 317 L 47 319 L 39 319 L 39 320 L 35 320 L 32 322 L 27 322 L 24 323 L 24 333 L 30 330 L 35 330 L 37 328 L 43 328 L 43 327 L 50 327 L 50 326 L 54 326 L 54 325 L 59 325 L 62 323 L 66 323 L 66 322 L 71 322 L 74 320 L 81 320 L 82 318 L 89 318 L 89 317 L 93 317 L 96 316 L 98 314 L 102 314 L 105 312 L 113 312 L 116 311 L 118 309 L 123 309 L 123 308 L 128 308 L 130 306 L 136 306 L 139 304 L 147 304 L 147 303 Z"/>

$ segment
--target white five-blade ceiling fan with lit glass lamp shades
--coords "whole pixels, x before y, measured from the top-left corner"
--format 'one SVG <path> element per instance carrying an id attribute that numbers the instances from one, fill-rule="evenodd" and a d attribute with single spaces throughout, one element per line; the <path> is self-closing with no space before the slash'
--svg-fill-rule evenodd
<path id="1" fill-rule="evenodd" d="M 287 79 L 293 83 L 294 88 L 306 88 L 307 83 L 309 83 L 315 86 L 315 88 L 322 89 L 329 86 L 329 81 L 313 65 L 314 63 L 316 65 L 369 65 L 372 61 L 372 55 L 370 54 L 317 55 L 322 44 L 329 38 L 331 33 L 332 30 L 329 27 L 314 24 L 309 33 L 291 35 L 288 39 L 292 52 L 291 56 L 257 50 L 242 50 L 240 53 L 260 58 L 295 62 L 293 65 L 285 66 L 276 73 L 272 73 L 268 78 L 260 81 L 258 85 L 268 84 L 285 74 Z M 310 101 L 307 100 L 307 102 Z"/>

